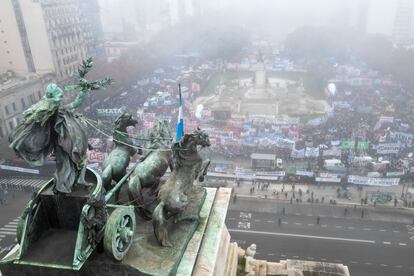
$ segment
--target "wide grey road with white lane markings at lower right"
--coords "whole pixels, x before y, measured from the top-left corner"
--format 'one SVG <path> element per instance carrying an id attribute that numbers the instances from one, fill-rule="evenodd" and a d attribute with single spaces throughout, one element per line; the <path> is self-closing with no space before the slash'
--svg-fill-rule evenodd
<path id="1" fill-rule="evenodd" d="M 316 216 L 230 210 L 226 223 L 234 241 L 257 244 L 258 258 L 338 262 L 353 276 L 414 275 L 412 226 L 339 217 L 318 225 Z"/>

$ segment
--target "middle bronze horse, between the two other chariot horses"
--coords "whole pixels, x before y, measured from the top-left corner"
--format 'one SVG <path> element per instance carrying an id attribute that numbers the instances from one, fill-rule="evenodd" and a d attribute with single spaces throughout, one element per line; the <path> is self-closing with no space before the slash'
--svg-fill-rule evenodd
<path id="1" fill-rule="evenodd" d="M 150 134 L 148 153 L 137 165 L 128 182 L 129 199 L 145 219 L 151 219 L 156 205 L 161 177 L 168 167 L 173 170 L 168 122 L 160 120 Z"/>

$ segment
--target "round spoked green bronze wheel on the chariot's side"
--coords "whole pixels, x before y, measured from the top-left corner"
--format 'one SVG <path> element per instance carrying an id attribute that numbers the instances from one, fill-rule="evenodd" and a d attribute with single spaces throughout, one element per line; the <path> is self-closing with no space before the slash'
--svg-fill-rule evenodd
<path id="1" fill-rule="evenodd" d="M 135 212 L 133 208 L 116 208 L 106 222 L 104 234 L 105 252 L 121 261 L 131 247 L 135 232 Z"/>

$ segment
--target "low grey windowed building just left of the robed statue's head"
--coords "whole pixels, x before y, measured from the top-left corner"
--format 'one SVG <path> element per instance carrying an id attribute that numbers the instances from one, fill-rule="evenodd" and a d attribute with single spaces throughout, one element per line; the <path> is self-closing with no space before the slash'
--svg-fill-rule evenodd
<path id="1" fill-rule="evenodd" d="M 7 138 L 22 120 L 23 111 L 42 98 L 47 84 L 54 80 L 53 74 L 0 74 L 0 140 Z"/>

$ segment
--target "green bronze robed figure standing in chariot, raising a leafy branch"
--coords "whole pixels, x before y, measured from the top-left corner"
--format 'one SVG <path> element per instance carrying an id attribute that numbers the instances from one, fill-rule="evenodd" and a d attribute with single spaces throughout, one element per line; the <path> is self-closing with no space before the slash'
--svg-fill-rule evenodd
<path id="1" fill-rule="evenodd" d="M 22 122 L 12 131 L 10 147 L 32 166 L 40 166 L 45 158 L 56 156 L 55 191 L 70 193 L 75 184 L 86 185 L 87 136 L 80 115 L 80 107 L 91 90 L 111 84 L 111 79 L 88 82 L 86 74 L 92 69 L 92 59 L 83 61 L 76 76 L 79 84 L 71 86 L 79 90 L 76 99 L 63 105 L 63 90 L 49 84 L 44 97 L 23 114 Z"/>

